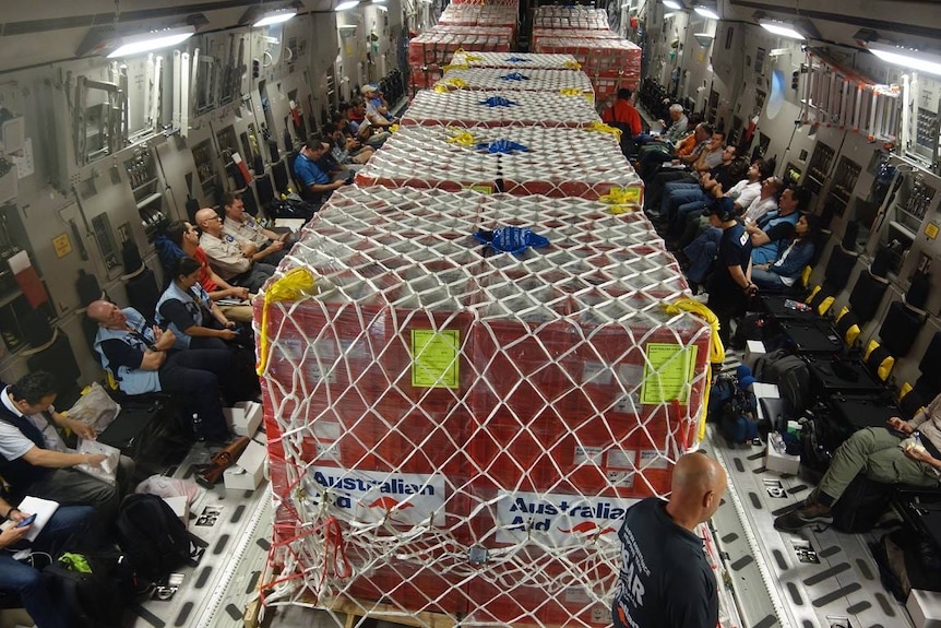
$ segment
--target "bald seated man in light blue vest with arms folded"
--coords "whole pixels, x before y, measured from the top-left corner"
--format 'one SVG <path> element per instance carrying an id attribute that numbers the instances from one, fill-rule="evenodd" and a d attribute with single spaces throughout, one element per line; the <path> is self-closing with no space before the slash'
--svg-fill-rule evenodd
<path id="1" fill-rule="evenodd" d="M 176 335 L 151 327 L 134 308 L 123 310 L 97 300 L 88 306 L 88 318 L 98 323 L 95 351 L 102 366 L 111 371 L 124 394 L 179 393 L 195 411 L 193 433 L 223 442 L 229 433 L 219 403 L 219 381 L 229 375 L 228 349 L 174 351 Z"/>

